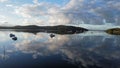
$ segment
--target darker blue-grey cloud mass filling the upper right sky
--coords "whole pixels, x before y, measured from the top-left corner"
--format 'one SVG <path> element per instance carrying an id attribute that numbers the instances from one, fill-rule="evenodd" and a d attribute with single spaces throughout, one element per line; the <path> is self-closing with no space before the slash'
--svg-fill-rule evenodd
<path id="1" fill-rule="evenodd" d="M 97 0 L 87 0 L 85 1 L 73 1 L 71 0 L 66 7 L 64 8 L 67 12 L 72 14 L 70 19 L 79 20 L 81 19 L 84 23 L 87 24 L 104 24 L 105 23 L 117 23 L 115 18 L 118 20 L 120 13 L 118 7 L 115 9 L 115 3 L 118 1 L 111 2 L 111 4 L 107 4 L 111 2 L 110 0 L 97 1 Z M 69 17 L 69 16 L 68 16 Z"/>

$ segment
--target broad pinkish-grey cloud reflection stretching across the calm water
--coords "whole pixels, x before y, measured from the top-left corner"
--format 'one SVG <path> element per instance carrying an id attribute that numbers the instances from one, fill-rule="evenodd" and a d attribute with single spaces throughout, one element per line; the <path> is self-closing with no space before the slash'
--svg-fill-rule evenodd
<path id="1" fill-rule="evenodd" d="M 86 68 L 89 66 L 120 67 L 120 36 L 89 36 L 86 33 L 87 35 L 84 36 L 80 34 L 56 35 L 50 38 L 46 33 L 16 34 L 19 40 L 6 48 L 13 50 L 12 53 L 20 51 L 24 54 L 32 54 L 34 59 L 40 56 L 61 54 L 63 59 Z M 0 53 L 2 53 L 1 50 Z"/>

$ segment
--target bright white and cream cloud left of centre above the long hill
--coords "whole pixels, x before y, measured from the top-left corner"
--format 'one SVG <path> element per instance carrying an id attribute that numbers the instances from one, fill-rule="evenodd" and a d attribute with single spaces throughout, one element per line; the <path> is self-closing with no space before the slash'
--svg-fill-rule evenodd
<path id="1" fill-rule="evenodd" d="M 48 3 L 39 3 L 32 5 L 26 4 L 22 7 L 17 8 L 16 13 L 25 18 L 28 18 L 24 21 L 27 24 L 57 25 L 69 22 L 69 19 L 59 11 L 59 8 L 60 7 L 58 5 L 51 5 Z"/>

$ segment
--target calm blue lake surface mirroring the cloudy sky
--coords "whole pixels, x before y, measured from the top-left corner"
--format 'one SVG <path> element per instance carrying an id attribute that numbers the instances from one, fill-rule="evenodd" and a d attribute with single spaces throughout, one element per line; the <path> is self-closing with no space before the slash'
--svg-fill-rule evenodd
<path id="1" fill-rule="evenodd" d="M 0 31 L 0 38 L 0 68 L 120 68 L 119 35 Z"/>

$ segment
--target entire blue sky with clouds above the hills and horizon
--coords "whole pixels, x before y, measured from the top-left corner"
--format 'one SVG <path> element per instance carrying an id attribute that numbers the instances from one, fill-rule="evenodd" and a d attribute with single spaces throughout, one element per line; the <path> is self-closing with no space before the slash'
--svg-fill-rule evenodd
<path id="1" fill-rule="evenodd" d="M 120 0 L 0 0 L 0 25 L 120 26 Z M 87 26 L 89 25 L 89 26 Z"/>

